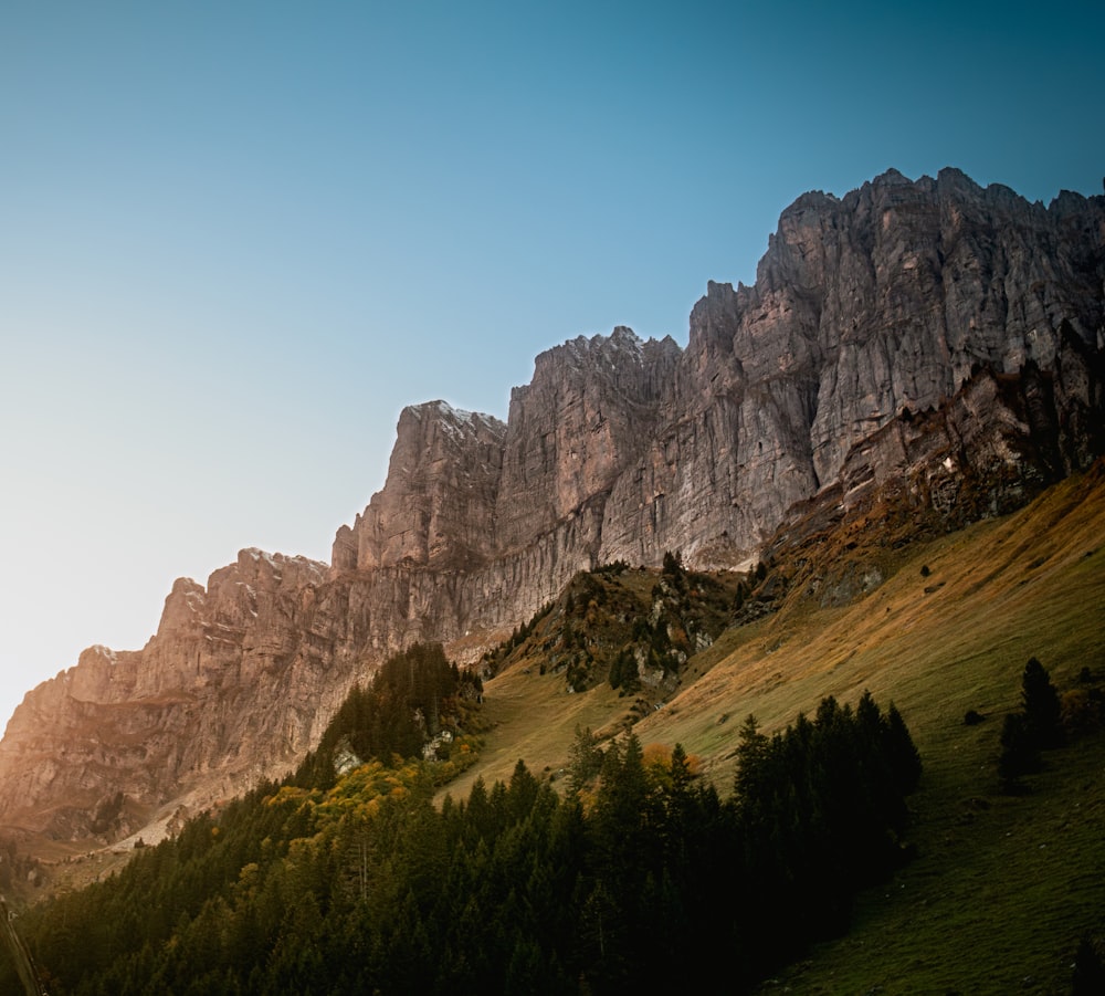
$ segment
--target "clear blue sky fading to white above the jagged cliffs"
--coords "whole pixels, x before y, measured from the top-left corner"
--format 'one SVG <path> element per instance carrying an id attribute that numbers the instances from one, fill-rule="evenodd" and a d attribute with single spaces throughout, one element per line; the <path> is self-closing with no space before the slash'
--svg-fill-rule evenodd
<path id="1" fill-rule="evenodd" d="M 403 406 L 685 345 L 807 190 L 1102 193 L 1103 40 L 1066 0 L 6 0 L 0 726 L 175 578 L 328 560 Z"/>

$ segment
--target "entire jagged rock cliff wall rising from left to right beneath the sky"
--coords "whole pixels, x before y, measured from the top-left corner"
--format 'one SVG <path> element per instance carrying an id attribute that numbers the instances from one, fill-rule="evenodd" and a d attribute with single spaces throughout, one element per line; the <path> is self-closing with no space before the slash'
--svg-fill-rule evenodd
<path id="1" fill-rule="evenodd" d="M 404 409 L 329 568 L 244 551 L 177 581 L 143 650 L 29 693 L 0 821 L 119 836 L 278 774 L 388 652 L 490 640 L 580 568 L 746 564 L 796 503 L 891 481 L 949 521 L 1006 511 L 1105 452 L 1103 352 L 1105 198 L 956 170 L 803 195 L 755 286 L 708 284 L 685 349 L 619 327 L 538 356 L 505 423 Z"/>

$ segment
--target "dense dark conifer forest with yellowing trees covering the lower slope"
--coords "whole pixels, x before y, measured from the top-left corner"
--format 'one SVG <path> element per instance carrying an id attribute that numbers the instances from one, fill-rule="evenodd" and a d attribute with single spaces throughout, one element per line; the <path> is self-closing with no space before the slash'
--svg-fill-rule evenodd
<path id="1" fill-rule="evenodd" d="M 368 694 L 402 672 L 444 692 L 451 669 L 420 648 L 391 671 Z M 364 747 L 365 694 L 324 744 Z M 718 973 L 740 989 L 846 927 L 855 889 L 902 860 L 919 776 L 901 716 L 870 695 L 770 738 L 749 719 L 732 798 L 681 747 L 632 734 L 565 796 L 518 762 L 440 808 L 453 765 L 391 753 L 338 778 L 305 765 L 31 910 L 50 992 L 622 993 Z"/>

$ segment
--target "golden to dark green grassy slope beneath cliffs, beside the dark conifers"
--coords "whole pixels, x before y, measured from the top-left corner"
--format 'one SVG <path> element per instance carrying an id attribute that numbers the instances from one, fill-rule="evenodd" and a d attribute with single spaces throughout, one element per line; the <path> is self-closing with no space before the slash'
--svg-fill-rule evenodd
<path id="1" fill-rule="evenodd" d="M 1105 740 L 1053 754 L 1024 797 L 998 793 L 993 763 L 1029 657 L 1061 689 L 1083 667 L 1105 665 L 1103 537 L 1098 469 L 1011 516 L 894 554 L 894 573 L 851 606 L 821 609 L 793 593 L 780 612 L 694 659 L 701 677 L 636 725 L 644 743 L 678 741 L 701 755 L 725 790 L 748 713 L 770 731 L 823 695 L 854 702 L 865 688 L 901 709 L 926 766 L 914 799 L 919 857 L 863 899 L 846 939 L 780 986 L 1066 992 L 1078 935 L 1105 929 Z M 627 706 L 609 688 L 568 695 L 562 678 L 522 663 L 487 682 L 486 701 L 498 725 L 454 795 L 477 775 L 508 777 L 519 757 L 556 770 L 577 724 L 612 726 Z M 987 721 L 966 726 L 969 709 Z"/>

